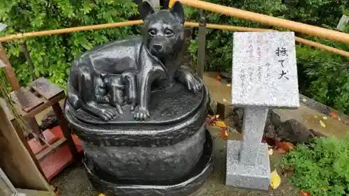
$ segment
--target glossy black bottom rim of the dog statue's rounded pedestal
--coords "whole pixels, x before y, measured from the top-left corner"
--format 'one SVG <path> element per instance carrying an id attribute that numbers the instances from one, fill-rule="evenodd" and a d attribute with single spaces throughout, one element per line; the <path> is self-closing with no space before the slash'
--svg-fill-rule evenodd
<path id="1" fill-rule="evenodd" d="M 213 139 L 205 130 L 206 142 L 200 160 L 186 176 L 173 180 L 120 180 L 99 169 L 88 157 L 84 160 L 89 181 L 99 193 L 109 196 L 186 196 L 198 190 L 214 166 Z"/>

